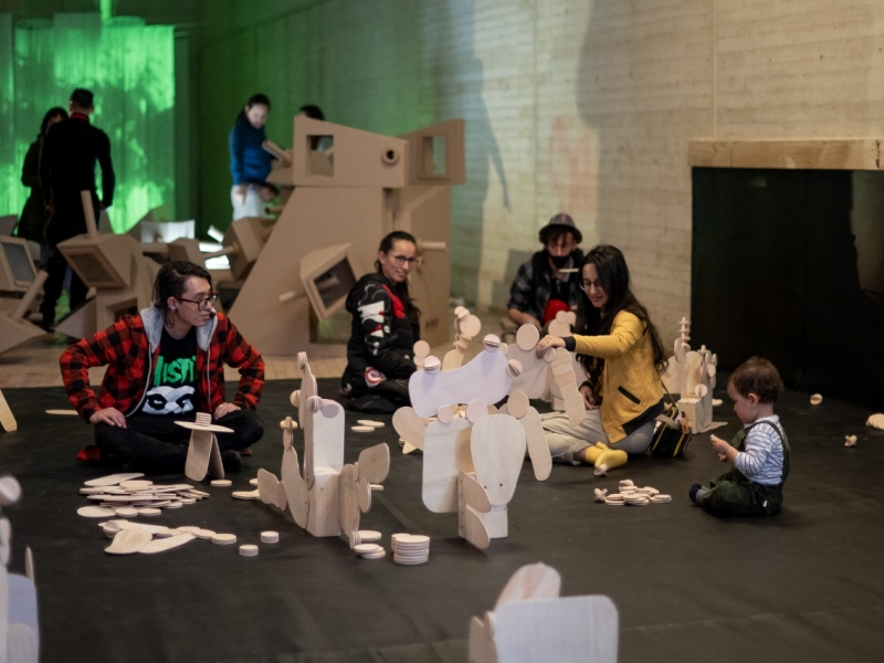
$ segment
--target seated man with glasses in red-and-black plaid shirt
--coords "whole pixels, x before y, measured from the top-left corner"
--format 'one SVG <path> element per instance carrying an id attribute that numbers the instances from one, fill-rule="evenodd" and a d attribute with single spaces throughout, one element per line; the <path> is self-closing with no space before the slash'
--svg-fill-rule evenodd
<path id="1" fill-rule="evenodd" d="M 117 456 L 148 471 L 181 472 L 189 431 L 176 421 L 211 412 L 227 472 L 242 467 L 240 452 L 257 442 L 255 413 L 264 360 L 212 304 L 217 293 L 204 269 L 188 262 L 164 265 L 154 283 L 154 305 L 84 338 L 61 356 L 67 398 L 95 427 L 101 457 Z M 240 369 L 232 402 L 224 394 L 224 364 Z M 88 369 L 107 366 L 96 398 Z"/>

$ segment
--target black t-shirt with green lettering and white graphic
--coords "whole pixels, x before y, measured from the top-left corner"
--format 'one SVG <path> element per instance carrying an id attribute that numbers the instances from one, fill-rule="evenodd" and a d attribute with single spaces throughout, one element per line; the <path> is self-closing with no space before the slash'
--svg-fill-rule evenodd
<path id="1" fill-rule="evenodd" d="M 183 338 L 173 338 L 165 329 L 154 379 L 141 404 L 145 414 L 176 415 L 193 411 L 197 391 L 197 328 Z"/>

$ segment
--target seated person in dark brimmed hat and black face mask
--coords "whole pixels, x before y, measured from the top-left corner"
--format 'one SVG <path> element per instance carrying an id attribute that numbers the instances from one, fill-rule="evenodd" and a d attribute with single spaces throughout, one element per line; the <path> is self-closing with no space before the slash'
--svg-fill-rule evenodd
<path id="1" fill-rule="evenodd" d="M 583 236 L 573 219 L 560 212 L 540 229 L 539 239 L 544 250 L 518 269 L 506 307 L 516 325 L 532 324 L 541 329 L 558 312 L 577 308 L 578 267 L 583 261 L 577 245 Z"/>

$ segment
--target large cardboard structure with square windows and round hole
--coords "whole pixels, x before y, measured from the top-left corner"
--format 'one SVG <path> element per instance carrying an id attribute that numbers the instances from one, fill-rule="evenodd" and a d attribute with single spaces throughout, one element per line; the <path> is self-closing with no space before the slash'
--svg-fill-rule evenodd
<path id="1" fill-rule="evenodd" d="M 315 139 L 330 147 L 311 149 Z M 317 330 L 339 306 L 317 305 L 307 272 L 327 262 L 319 277 L 330 271 L 343 284 L 337 265 L 347 280 L 352 270 L 355 282 L 372 269 L 380 240 L 403 230 L 418 240 L 409 290 L 422 311 L 421 338 L 445 343 L 450 188 L 463 182 L 463 120 L 393 138 L 298 116 L 291 160 L 274 167 L 272 180 L 294 189 L 230 312 L 242 334 L 269 355 L 343 356 L 344 344 L 323 343 Z M 343 242 L 346 264 L 329 257 Z"/>

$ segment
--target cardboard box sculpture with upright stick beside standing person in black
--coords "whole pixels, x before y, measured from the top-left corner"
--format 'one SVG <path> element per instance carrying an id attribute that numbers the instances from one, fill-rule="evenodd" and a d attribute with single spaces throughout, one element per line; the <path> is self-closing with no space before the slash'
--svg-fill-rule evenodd
<path id="1" fill-rule="evenodd" d="M 55 326 L 56 332 L 74 338 L 92 336 L 124 315 L 149 306 L 156 274 L 156 270 L 149 267 L 152 261 L 145 257 L 134 238 L 98 233 L 90 192 L 83 191 L 82 198 L 86 234 L 59 243 L 71 269 L 88 287 L 96 290 L 95 297 Z"/>

